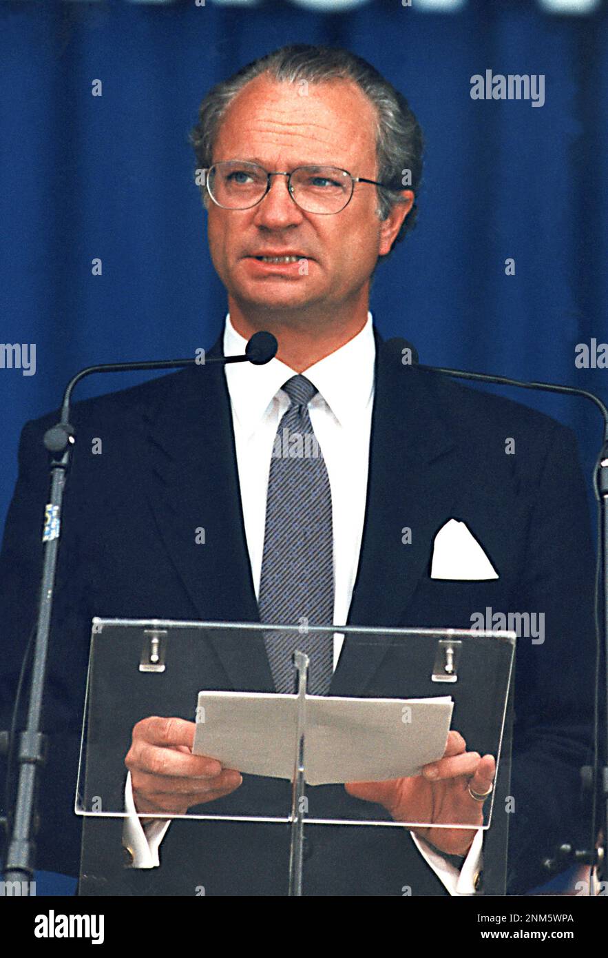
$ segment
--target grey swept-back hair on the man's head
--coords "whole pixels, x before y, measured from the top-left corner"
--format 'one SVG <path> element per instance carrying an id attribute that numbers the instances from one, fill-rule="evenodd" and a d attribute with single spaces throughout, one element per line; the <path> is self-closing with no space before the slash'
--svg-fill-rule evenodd
<path id="1" fill-rule="evenodd" d="M 217 83 L 201 103 L 198 123 L 191 130 L 197 166 L 205 169 L 212 165 L 215 138 L 228 106 L 247 83 L 261 74 L 286 83 L 352 80 L 357 84 L 375 107 L 378 179 L 394 190 L 410 189 L 415 194 L 414 205 L 394 242 L 403 239 L 414 228 L 417 219 L 416 199 L 422 178 L 422 130 L 409 103 L 393 84 L 367 60 L 348 50 L 307 44 L 281 47 L 242 67 L 228 80 Z M 378 187 L 376 190 L 377 215 L 386 219 L 397 203 L 404 202 L 404 198 Z"/>

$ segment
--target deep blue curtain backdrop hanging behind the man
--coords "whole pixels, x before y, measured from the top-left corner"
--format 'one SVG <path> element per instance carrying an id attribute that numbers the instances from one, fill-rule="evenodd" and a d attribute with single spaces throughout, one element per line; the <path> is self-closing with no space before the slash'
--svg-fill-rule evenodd
<path id="1" fill-rule="evenodd" d="M 325 14 L 279 2 L 0 0 L 0 340 L 36 346 L 34 376 L 0 369 L 0 527 L 21 426 L 56 408 L 69 376 L 91 363 L 193 355 L 214 340 L 225 302 L 188 132 L 215 81 L 285 43 L 368 58 L 425 131 L 417 229 L 372 289 L 380 331 L 412 340 L 425 362 L 607 396 L 608 370 L 574 366 L 577 343 L 608 340 L 605 11 L 552 17 L 533 0 L 469 0 L 454 14 L 416 6 L 372 0 Z M 470 78 L 486 69 L 545 75 L 545 104 L 471 100 Z M 134 378 L 97 377 L 79 397 Z M 593 408 L 517 398 L 574 427 L 589 473 Z"/>

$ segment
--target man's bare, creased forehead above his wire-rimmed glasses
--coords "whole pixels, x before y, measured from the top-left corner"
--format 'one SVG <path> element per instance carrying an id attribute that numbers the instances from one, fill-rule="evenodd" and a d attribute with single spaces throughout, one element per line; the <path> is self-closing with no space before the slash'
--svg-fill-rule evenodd
<path id="1" fill-rule="evenodd" d="M 262 75 L 226 110 L 213 159 L 256 160 L 275 170 L 328 163 L 372 175 L 375 129 L 375 108 L 351 80 L 288 83 Z"/>

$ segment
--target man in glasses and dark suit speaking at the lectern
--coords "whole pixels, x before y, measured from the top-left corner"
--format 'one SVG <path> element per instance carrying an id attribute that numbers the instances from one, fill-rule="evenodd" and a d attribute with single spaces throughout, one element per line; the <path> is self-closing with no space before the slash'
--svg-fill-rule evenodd
<path id="1" fill-rule="evenodd" d="M 583 694 L 591 681 L 592 554 L 572 438 L 514 403 L 405 370 L 372 330 L 372 272 L 411 225 L 421 141 L 407 103 L 368 64 L 342 51 L 278 51 L 212 91 L 194 143 L 210 250 L 228 293 L 229 318 L 214 350 L 240 353 L 251 334 L 268 330 L 279 353 L 261 369 L 232 367 L 225 378 L 211 367 L 188 371 L 75 411 L 79 436 L 102 434 L 110 451 L 101 463 L 75 457 L 64 517 L 49 697 L 66 762 L 74 766 L 67 733 L 76 738 L 91 613 L 271 623 L 304 615 L 310 624 L 389 627 L 470 626 L 487 605 L 542 611 L 546 643 L 521 644 L 517 656 L 509 885 L 521 892 L 542 879 L 543 855 L 573 838 L 578 767 L 590 743 Z M 405 171 L 412 189 L 402 188 Z M 320 459 L 301 471 L 281 472 L 273 461 L 284 422 L 320 446 Z M 23 531 L 34 536 L 34 505 L 44 494 L 31 452 L 40 428 L 24 432 L 3 554 L 15 634 L 17 627 L 25 634 L 25 616 L 14 596 L 23 595 L 39 554 Z M 505 456 L 507 436 L 516 437 L 516 457 Z M 491 479 L 483 468 L 471 474 L 471 462 L 484 460 Z M 545 489 L 557 463 L 559 489 Z M 92 490 L 102 500 L 94 509 Z M 430 575 L 434 540 L 453 518 L 483 543 L 492 580 Z M 286 534 L 286 522 L 296 523 L 297 535 Z M 400 537 L 404 525 L 410 545 Z M 197 527 L 206 533 L 202 550 Z M 575 571 L 571 551 L 581 556 Z M 68 654 L 76 681 L 61 669 Z M 398 695 L 390 655 L 362 656 L 347 640 L 335 671 L 328 655 L 327 648 L 312 654 L 318 691 Z M 209 655 L 205 687 L 290 691 L 288 658 L 270 643 L 251 660 L 233 655 L 222 672 Z M 14 674 L 12 663 L 7 672 Z M 193 833 L 201 826 L 175 821 L 167 830 L 154 821 L 159 812 L 221 808 L 250 787 L 238 770 L 191 755 L 192 741 L 193 724 L 177 713 L 145 718 L 133 730 L 126 800 L 150 820 L 144 828 L 133 820 L 126 844 L 135 866 L 150 866 L 162 839 L 162 865 L 130 869 L 123 893 L 158 893 L 163 879 L 192 867 L 208 894 L 284 893 L 285 835 L 276 827 L 205 823 Z M 384 810 L 407 821 L 430 808 L 439 825 L 455 816 L 479 825 L 494 771 L 493 756 L 467 751 L 455 731 L 423 777 L 332 787 L 327 803 L 341 817 L 368 802 L 372 817 Z M 49 813 L 66 833 L 57 801 Z M 313 826 L 309 833 L 308 894 L 479 888 L 481 833 L 437 828 L 409 838 L 400 829 Z"/>

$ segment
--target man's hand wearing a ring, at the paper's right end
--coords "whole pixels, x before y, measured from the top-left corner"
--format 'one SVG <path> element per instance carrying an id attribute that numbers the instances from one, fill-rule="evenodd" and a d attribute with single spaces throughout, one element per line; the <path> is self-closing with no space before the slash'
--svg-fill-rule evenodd
<path id="1" fill-rule="evenodd" d="M 438 825 L 484 824 L 484 802 L 472 798 L 491 790 L 496 774 L 493 755 L 467 752 L 459 732 L 449 732 L 443 757 L 424 765 L 420 775 L 388 782 L 348 782 L 355 798 L 377 802 L 397 822 L 434 822 Z M 472 829 L 424 828 L 413 831 L 445 855 L 466 855 L 475 833 Z"/>

